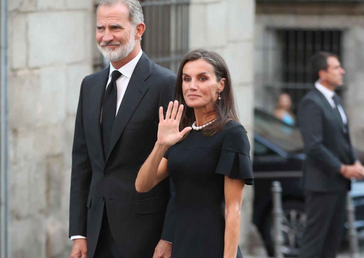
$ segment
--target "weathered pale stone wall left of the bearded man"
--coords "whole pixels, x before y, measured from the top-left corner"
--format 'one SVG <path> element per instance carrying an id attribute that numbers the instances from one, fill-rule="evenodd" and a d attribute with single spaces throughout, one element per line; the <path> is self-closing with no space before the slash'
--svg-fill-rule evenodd
<path id="1" fill-rule="evenodd" d="M 68 257 L 71 148 L 92 72 L 91 0 L 8 1 L 9 189 L 13 258 Z"/>

